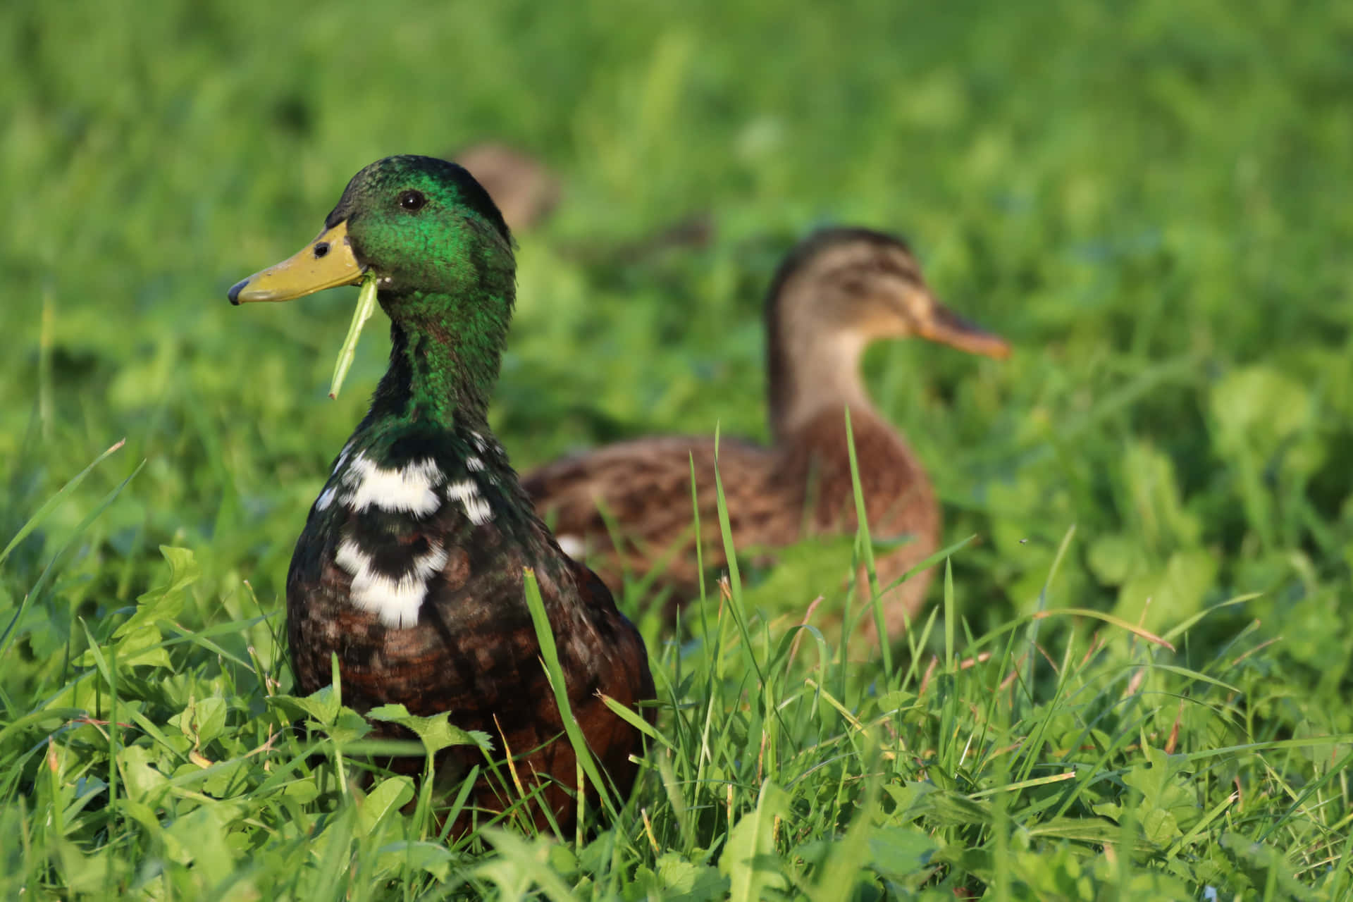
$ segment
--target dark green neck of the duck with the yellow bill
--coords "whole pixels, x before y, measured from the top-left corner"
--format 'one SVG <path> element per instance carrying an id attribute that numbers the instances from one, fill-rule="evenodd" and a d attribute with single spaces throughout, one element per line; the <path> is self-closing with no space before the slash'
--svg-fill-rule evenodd
<path id="1" fill-rule="evenodd" d="M 390 369 L 376 387 L 364 426 L 433 423 L 445 430 L 487 429 L 507 323 L 486 303 L 445 295 L 382 296 L 390 314 Z M 464 323 L 453 329 L 451 323 Z"/>

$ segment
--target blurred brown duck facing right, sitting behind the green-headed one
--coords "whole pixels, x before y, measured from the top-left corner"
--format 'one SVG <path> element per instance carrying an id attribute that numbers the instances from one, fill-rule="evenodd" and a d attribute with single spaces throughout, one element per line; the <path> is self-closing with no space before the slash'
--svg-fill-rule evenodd
<path id="1" fill-rule="evenodd" d="M 668 607 L 679 606 L 701 592 L 693 465 L 709 571 L 727 567 L 716 462 L 733 545 L 755 549 L 758 560 L 774 561 L 777 549 L 810 536 L 855 533 L 848 410 L 871 536 L 894 540 L 875 572 L 886 590 L 884 626 L 896 640 L 932 575 L 898 580 L 939 548 L 942 515 L 921 461 L 870 399 L 861 358 L 874 342 L 907 337 L 993 358 L 1007 357 L 1009 345 L 940 303 L 902 238 L 863 227 L 820 229 L 798 242 L 771 280 L 764 325 L 769 445 L 643 437 L 547 462 L 522 485 L 563 548 L 595 567 L 612 591 L 622 591 L 630 572 L 645 576 Z M 869 586 L 863 568 L 858 579 Z M 873 618 L 863 633 L 878 641 Z"/>

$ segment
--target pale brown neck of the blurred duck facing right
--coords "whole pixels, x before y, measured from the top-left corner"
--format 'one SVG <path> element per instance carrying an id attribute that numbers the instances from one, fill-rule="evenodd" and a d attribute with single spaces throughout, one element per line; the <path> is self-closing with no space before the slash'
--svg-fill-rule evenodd
<path id="1" fill-rule="evenodd" d="M 770 427 L 783 441 L 819 414 L 850 407 L 873 414 L 859 376 L 867 338 L 858 330 L 771 318 L 767 352 Z M 823 329 L 827 333 L 823 334 Z"/>

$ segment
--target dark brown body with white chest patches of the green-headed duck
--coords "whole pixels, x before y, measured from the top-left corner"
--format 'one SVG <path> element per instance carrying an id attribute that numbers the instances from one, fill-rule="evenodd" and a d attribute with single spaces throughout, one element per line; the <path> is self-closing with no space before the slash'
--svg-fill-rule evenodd
<path id="1" fill-rule="evenodd" d="M 653 688 L 643 641 L 610 592 L 522 514 L 529 507 L 491 438 L 418 427 L 375 445 L 359 431 L 340 454 L 296 542 L 287 627 L 298 690 L 327 686 L 337 655 L 345 705 L 365 713 L 402 703 L 421 717 L 451 711 L 452 723 L 486 733 L 499 752 L 532 752 L 518 767 L 548 780 L 556 822 L 570 822 L 572 746 L 555 741 L 564 725 L 526 604 L 509 602 L 525 598 L 529 568 L 572 714 L 609 776 L 628 787 L 640 748 L 597 692 L 636 707 Z M 379 734 L 407 737 L 386 723 Z M 422 768 L 417 759 L 399 764 Z M 437 759 L 438 782 L 475 764 L 484 764 L 478 746 L 448 748 Z M 472 801 L 495 811 L 513 795 L 484 782 Z"/>

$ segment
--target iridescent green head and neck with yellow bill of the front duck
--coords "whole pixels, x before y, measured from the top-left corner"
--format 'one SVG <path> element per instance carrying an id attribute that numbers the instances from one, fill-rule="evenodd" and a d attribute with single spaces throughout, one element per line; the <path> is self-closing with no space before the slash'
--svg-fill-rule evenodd
<path id="1" fill-rule="evenodd" d="M 386 410 L 483 417 L 515 299 L 511 234 L 461 166 L 387 157 L 348 183 L 325 227 L 276 266 L 234 285 L 234 304 L 292 300 L 373 277 L 392 322 Z"/>

